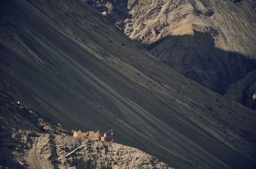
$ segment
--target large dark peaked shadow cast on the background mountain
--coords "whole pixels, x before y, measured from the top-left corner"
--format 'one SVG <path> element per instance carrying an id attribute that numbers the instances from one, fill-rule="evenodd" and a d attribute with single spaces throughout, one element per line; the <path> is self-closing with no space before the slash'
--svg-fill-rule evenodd
<path id="1" fill-rule="evenodd" d="M 168 36 L 145 46 L 162 62 L 212 91 L 224 94 L 227 86 L 256 68 L 256 61 L 237 52 L 214 47 L 218 31 L 194 30 L 194 36 Z"/>

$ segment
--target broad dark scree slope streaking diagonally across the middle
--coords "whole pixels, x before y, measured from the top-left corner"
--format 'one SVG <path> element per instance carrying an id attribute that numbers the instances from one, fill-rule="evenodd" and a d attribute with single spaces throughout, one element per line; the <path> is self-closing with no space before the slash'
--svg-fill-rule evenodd
<path id="1" fill-rule="evenodd" d="M 176 73 L 84 1 L 4 0 L 0 16 L 1 89 L 56 124 L 113 128 L 173 168 L 256 165 L 255 111 Z"/>

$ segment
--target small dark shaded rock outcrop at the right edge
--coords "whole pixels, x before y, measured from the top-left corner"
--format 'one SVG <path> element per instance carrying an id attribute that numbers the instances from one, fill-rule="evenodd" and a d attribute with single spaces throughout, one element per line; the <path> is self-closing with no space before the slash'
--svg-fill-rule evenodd
<path id="1" fill-rule="evenodd" d="M 256 110 L 256 70 L 229 85 L 225 97 Z"/>

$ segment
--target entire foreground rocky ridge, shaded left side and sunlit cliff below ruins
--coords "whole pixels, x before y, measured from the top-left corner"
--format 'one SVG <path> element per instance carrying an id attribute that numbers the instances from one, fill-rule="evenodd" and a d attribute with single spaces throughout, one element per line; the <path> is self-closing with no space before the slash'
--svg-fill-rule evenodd
<path id="1" fill-rule="evenodd" d="M 0 168 L 170 168 L 132 147 L 74 138 L 4 92 L 0 101 Z"/>

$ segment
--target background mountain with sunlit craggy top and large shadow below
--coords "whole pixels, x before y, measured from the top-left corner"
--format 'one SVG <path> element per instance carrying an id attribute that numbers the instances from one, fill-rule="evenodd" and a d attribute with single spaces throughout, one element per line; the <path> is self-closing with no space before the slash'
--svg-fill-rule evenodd
<path id="1" fill-rule="evenodd" d="M 220 94 L 256 68 L 253 0 L 88 0 L 88 4 L 168 66 Z"/>

